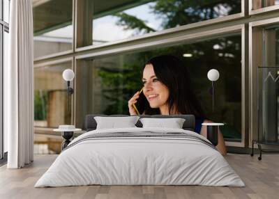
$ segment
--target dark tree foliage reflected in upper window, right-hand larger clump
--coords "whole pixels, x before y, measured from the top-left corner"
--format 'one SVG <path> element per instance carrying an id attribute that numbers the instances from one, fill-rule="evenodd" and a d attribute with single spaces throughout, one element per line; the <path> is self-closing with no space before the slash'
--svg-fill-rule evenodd
<path id="1" fill-rule="evenodd" d="M 222 14 L 223 8 L 229 10 L 228 15 L 241 12 L 241 1 L 230 0 L 158 0 L 151 7 L 153 13 L 163 17 L 164 29 L 182 26 L 206 19 L 213 19 Z"/>

